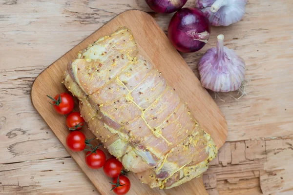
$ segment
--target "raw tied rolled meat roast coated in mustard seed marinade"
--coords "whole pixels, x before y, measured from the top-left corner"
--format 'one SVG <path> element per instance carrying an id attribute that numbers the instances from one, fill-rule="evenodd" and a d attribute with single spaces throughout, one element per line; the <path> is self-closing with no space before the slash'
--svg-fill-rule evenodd
<path id="1" fill-rule="evenodd" d="M 62 82 L 79 98 L 94 135 L 151 188 L 172 188 L 200 176 L 216 156 L 210 135 L 139 55 L 125 27 L 81 51 Z"/>

